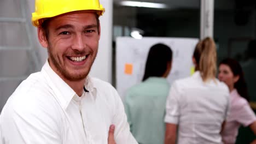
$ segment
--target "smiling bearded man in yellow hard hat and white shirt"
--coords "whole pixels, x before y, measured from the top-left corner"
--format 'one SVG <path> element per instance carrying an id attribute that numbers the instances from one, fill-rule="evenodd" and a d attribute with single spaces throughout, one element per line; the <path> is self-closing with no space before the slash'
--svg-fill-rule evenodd
<path id="1" fill-rule="evenodd" d="M 103 12 L 98 0 L 36 1 L 32 23 L 49 58 L 5 104 L 0 143 L 137 143 L 117 91 L 88 76 Z"/>

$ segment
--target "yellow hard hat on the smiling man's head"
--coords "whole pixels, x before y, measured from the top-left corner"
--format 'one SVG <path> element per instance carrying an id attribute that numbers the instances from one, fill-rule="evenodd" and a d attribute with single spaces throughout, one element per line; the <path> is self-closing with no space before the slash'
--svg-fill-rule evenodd
<path id="1" fill-rule="evenodd" d="M 32 25 L 38 27 L 42 19 L 78 10 L 96 10 L 103 15 L 105 9 L 99 0 L 36 0 L 35 12 L 32 13 Z"/>

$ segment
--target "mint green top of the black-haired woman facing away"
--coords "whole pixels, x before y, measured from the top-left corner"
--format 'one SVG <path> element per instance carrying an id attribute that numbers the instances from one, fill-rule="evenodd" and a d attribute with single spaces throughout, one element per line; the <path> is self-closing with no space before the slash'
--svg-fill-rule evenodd
<path id="1" fill-rule="evenodd" d="M 127 90 L 125 112 L 131 133 L 138 143 L 164 143 L 165 105 L 169 88 L 166 79 L 149 77 Z"/>

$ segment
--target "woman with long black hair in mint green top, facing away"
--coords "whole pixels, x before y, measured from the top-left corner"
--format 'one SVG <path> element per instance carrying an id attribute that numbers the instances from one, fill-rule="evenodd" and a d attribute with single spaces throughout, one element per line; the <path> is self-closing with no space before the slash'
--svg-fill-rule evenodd
<path id="1" fill-rule="evenodd" d="M 150 47 L 142 82 L 129 88 L 125 111 L 138 143 L 164 143 L 165 101 L 169 91 L 172 50 L 164 44 Z"/>

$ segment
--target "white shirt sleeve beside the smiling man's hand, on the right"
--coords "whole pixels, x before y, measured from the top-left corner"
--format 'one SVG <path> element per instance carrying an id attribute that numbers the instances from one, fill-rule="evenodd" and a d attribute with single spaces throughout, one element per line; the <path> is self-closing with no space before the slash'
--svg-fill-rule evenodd
<path id="1" fill-rule="evenodd" d="M 124 105 L 117 91 L 114 90 L 115 96 L 115 114 L 113 124 L 115 125 L 114 138 L 117 144 L 137 144 L 132 136 L 129 123 L 127 122 Z"/>

